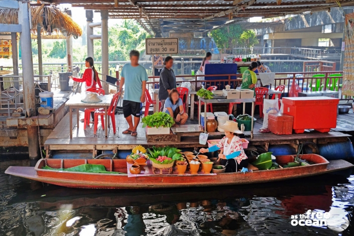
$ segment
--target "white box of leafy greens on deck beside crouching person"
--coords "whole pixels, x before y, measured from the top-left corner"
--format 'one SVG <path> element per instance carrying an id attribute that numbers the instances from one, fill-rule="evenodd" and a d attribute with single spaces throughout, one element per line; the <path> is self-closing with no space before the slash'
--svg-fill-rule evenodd
<path id="1" fill-rule="evenodd" d="M 145 116 L 142 123 L 147 135 L 168 135 L 175 124 L 170 114 L 161 111 Z"/>

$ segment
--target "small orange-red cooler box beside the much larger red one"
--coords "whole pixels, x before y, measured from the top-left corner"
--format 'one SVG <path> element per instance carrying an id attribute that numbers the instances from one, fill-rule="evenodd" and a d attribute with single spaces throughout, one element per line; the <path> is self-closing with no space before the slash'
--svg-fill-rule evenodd
<path id="1" fill-rule="evenodd" d="M 268 129 L 276 135 L 291 135 L 293 133 L 294 117 L 288 114 L 268 114 Z"/>

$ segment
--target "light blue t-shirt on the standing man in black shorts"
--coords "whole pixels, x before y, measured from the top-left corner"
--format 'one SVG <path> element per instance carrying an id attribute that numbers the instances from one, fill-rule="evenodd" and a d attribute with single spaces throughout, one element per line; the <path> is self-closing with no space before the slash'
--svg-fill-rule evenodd
<path id="1" fill-rule="evenodd" d="M 123 100 L 141 102 L 140 97 L 143 93 L 143 81 L 148 81 L 148 73 L 143 66 L 132 66 L 125 64 L 121 76 L 125 78 Z"/>

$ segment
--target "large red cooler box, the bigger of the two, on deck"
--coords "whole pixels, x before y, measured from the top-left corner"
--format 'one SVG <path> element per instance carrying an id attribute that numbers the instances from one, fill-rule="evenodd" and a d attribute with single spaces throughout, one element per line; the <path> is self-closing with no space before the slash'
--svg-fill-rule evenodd
<path id="1" fill-rule="evenodd" d="M 337 126 L 338 98 L 332 97 L 283 97 L 284 113 L 294 116 L 295 133 L 305 129 L 327 133 Z"/>

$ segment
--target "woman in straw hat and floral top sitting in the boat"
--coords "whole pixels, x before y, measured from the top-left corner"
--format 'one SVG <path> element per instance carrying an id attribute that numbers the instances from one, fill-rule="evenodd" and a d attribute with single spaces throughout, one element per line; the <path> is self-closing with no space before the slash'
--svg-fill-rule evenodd
<path id="1" fill-rule="evenodd" d="M 233 121 L 226 121 L 225 125 L 219 126 L 219 128 L 224 130 L 225 137 L 217 145 L 208 149 L 202 148 L 200 152 L 206 153 L 221 150 L 218 157 L 221 159 L 221 165 L 226 167 L 226 173 L 237 172 L 243 167 L 247 168 L 248 158 L 242 147 L 242 141 L 237 136 L 238 134 L 242 134 L 238 128 L 238 124 Z"/>

